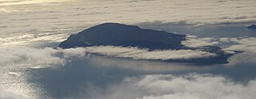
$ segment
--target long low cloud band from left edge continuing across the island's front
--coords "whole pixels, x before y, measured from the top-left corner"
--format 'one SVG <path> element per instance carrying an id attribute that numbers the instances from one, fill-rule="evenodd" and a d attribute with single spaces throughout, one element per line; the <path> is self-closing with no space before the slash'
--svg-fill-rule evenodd
<path id="1" fill-rule="evenodd" d="M 215 57 L 215 53 L 208 53 L 199 50 L 154 50 L 138 49 L 136 47 L 120 46 L 93 46 L 75 49 L 36 49 L 29 47 L 22 48 L 1 48 L 1 65 L 13 64 L 65 64 L 71 57 L 84 57 L 86 53 L 95 53 L 110 57 L 126 57 L 145 60 L 168 60 L 168 59 L 190 59 L 198 57 Z"/>

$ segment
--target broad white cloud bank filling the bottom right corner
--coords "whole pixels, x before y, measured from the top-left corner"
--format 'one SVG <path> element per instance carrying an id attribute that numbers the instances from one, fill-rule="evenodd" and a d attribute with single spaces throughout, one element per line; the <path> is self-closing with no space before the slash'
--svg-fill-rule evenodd
<path id="1" fill-rule="evenodd" d="M 256 81 L 241 84 L 229 78 L 190 73 L 128 77 L 120 85 L 109 88 L 98 99 L 254 99 Z M 97 96 L 95 95 L 95 96 Z"/>

